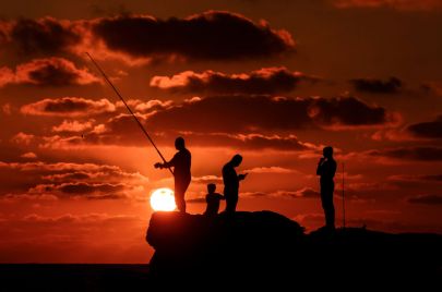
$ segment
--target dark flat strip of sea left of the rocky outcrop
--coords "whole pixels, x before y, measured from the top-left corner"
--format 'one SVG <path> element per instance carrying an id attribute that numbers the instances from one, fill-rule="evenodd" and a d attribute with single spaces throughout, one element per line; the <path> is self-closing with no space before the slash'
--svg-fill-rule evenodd
<path id="1" fill-rule="evenodd" d="M 2 292 L 146 291 L 151 282 L 148 265 L 0 265 Z"/>

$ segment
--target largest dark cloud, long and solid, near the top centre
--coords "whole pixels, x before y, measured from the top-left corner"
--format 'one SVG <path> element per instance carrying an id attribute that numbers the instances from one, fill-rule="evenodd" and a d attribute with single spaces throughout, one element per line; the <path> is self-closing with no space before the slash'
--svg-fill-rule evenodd
<path id="1" fill-rule="evenodd" d="M 112 51 L 135 58 L 182 56 L 227 60 L 270 57 L 294 49 L 290 34 L 230 12 L 208 11 L 187 19 L 124 15 L 100 19 L 94 35 Z"/>

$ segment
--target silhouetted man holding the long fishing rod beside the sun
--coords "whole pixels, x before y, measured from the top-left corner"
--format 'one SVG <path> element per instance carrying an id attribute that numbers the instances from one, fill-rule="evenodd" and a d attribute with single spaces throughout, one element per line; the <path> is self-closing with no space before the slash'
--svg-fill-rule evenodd
<path id="1" fill-rule="evenodd" d="M 192 179 L 190 173 L 192 156 L 186 148 L 182 137 L 175 139 L 175 148 L 177 148 L 178 153 L 174 158 L 169 162 L 155 163 L 155 168 L 174 168 L 175 203 L 177 204 L 178 210 L 186 212 L 184 194 Z"/>

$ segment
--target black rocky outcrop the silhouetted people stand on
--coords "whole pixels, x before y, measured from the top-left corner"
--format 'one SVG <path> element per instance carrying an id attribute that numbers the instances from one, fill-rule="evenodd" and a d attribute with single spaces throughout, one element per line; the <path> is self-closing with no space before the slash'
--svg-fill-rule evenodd
<path id="1" fill-rule="evenodd" d="M 248 287 L 326 285 L 331 290 L 442 283 L 442 235 L 391 234 L 361 228 L 309 234 L 272 211 L 214 218 L 156 212 L 147 242 L 155 279 L 193 278 Z M 434 289 L 435 285 L 432 288 Z M 442 290 L 440 290 L 442 291 Z"/>

